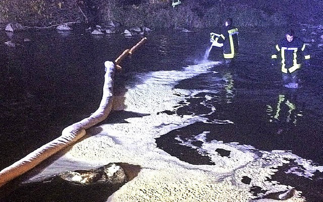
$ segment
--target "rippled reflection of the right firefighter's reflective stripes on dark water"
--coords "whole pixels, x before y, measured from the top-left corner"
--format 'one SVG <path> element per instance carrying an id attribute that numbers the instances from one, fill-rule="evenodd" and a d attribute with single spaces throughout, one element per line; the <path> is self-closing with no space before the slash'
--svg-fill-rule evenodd
<path id="1" fill-rule="evenodd" d="M 303 116 L 302 111 L 296 111 L 296 109 L 293 97 L 288 98 L 286 95 L 280 94 L 278 95 L 276 108 L 274 109 L 272 106 L 267 105 L 266 112 L 270 116 L 270 122 L 286 122 L 296 126 L 297 119 Z"/>

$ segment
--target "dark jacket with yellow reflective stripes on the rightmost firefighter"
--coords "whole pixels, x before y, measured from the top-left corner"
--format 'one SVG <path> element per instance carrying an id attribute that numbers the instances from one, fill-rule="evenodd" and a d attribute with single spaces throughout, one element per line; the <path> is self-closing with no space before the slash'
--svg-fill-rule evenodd
<path id="1" fill-rule="evenodd" d="M 284 38 L 277 43 L 273 49 L 272 59 L 276 60 L 278 56 L 282 60 L 282 72 L 284 73 L 294 72 L 301 68 L 303 60 L 310 59 L 306 45 L 297 37 L 295 37 L 291 42 L 288 42 L 287 39 Z"/>

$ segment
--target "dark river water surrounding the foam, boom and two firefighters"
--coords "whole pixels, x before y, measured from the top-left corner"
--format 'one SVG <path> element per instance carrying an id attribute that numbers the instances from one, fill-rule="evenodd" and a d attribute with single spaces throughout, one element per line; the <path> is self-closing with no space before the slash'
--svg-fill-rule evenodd
<path id="1" fill-rule="evenodd" d="M 157 146 L 196 165 L 213 164 L 202 145 L 214 141 L 239 144 L 254 153 L 289 151 L 308 167 L 291 162 L 273 178 L 303 191 L 308 201 L 323 200 L 322 31 L 318 26 L 301 28 L 299 35 L 308 43 L 312 60 L 302 71 L 299 89 L 283 87 L 279 67 L 270 66 L 271 48 L 283 36 L 282 28 L 241 29 L 234 65 L 213 65 L 207 72 L 180 80 L 175 88 L 190 94 L 179 94 L 185 102 L 161 112 L 207 121 L 161 135 Z M 121 64 L 115 93 L 122 95 L 149 72 L 181 71 L 209 62 L 204 56 L 211 31 L 148 34 L 146 44 Z M 5 45 L 8 40 L 16 46 Z M 114 61 L 139 40 L 119 34 L 93 36 L 83 30 L 0 32 L 0 169 L 93 113 L 101 99 L 104 61 Z M 221 55 L 213 49 L 209 59 L 221 61 Z M 109 119 L 118 118 L 112 114 Z M 216 151 L 230 156 L 228 150 Z"/>

